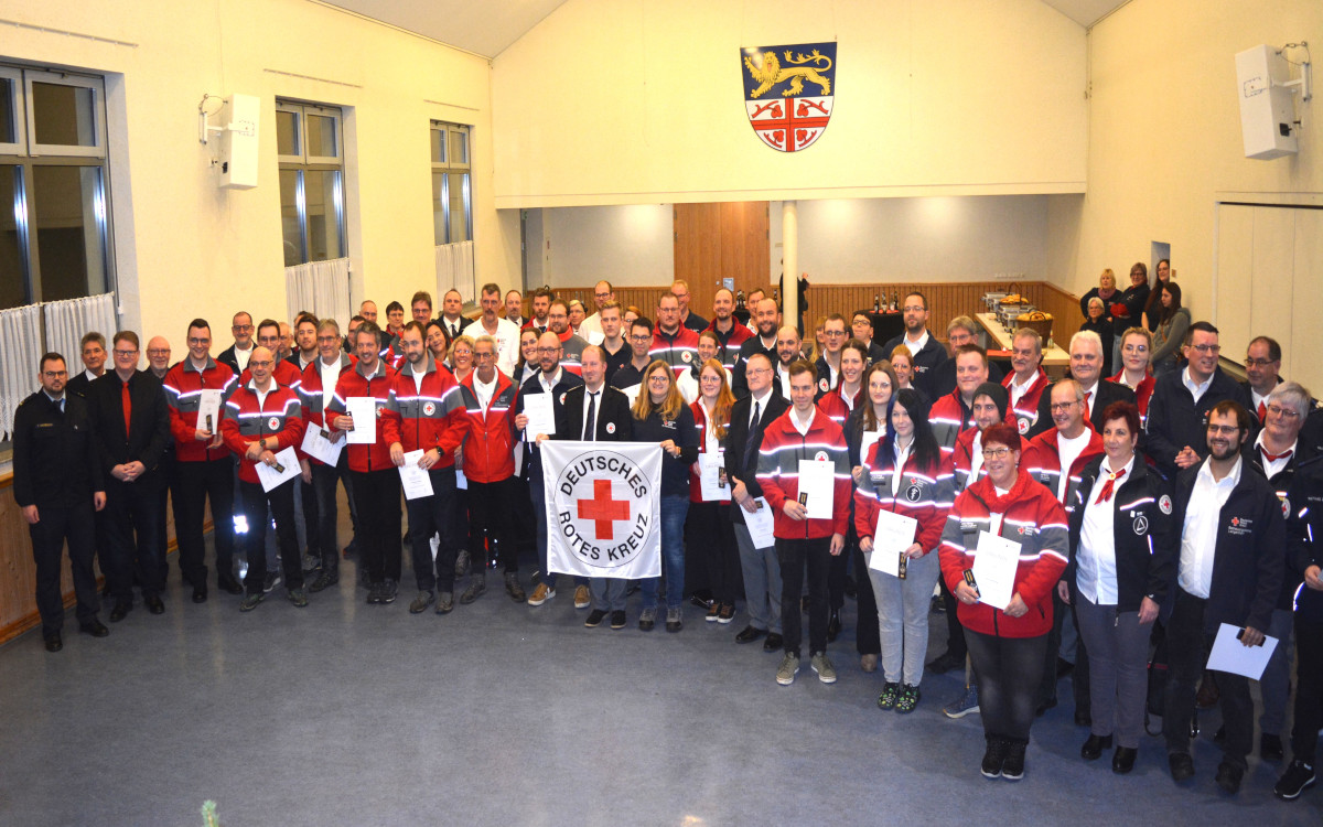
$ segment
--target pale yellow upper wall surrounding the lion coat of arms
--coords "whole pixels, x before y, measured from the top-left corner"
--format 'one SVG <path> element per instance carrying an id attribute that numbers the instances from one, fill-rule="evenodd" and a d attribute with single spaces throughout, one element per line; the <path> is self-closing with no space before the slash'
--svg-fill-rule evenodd
<path id="1" fill-rule="evenodd" d="M 740 48 L 831 40 L 823 138 L 763 146 Z M 1082 192 L 1085 58 L 1027 0 L 569 0 L 492 62 L 496 206 Z"/>

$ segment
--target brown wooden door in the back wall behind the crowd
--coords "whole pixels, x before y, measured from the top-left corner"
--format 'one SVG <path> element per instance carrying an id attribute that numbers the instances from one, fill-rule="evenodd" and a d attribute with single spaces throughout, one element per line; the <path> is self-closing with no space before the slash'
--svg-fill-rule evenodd
<path id="1" fill-rule="evenodd" d="M 675 278 L 689 284 L 689 307 L 705 319 L 721 279 L 746 294 L 769 286 L 767 247 L 766 201 L 675 205 Z"/>

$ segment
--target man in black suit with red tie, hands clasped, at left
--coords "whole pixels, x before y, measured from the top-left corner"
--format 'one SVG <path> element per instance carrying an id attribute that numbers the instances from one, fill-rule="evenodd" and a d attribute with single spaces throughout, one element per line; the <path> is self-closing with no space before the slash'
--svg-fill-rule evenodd
<path id="1" fill-rule="evenodd" d="M 164 544 L 157 509 L 160 470 L 169 439 L 169 409 L 161 382 L 149 370 L 138 369 L 139 344 L 132 331 L 115 333 L 115 369 L 91 384 L 87 402 L 93 429 L 106 474 L 106 509 L 101 531 L 105 535 L 102 570 L 115 598 L 111 623 L 124 619 L 134 607 L 134 574 L 143 590 L 143 603 L 152 614 L 163 614 L 165 589 L 159 560 Z M 135 569 L 136 564 L 136 569 Z"/>

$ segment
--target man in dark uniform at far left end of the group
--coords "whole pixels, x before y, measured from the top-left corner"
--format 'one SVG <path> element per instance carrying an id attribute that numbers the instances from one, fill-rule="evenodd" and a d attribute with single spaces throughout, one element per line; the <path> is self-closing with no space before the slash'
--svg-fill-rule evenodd
<path id="1" fill-rule="evenodd" d="M 41 357 L 41 390 L 19 406 L 13 418 L 13 498 L 32 535 L 37 564 L 37 610 L 48 652 L 64 648 L 65 622 L 60 594 L 60 552 L 69 540 L 69 562 L 78 597 L 78 629 L 94 638 L 110 630 L 97 619 L 101 602 L 91 561 L 95 550 L 93 509 L 106 505 L 93 441 L 91 419 L 82 397 L 66 396 L 65 357 Z"/>

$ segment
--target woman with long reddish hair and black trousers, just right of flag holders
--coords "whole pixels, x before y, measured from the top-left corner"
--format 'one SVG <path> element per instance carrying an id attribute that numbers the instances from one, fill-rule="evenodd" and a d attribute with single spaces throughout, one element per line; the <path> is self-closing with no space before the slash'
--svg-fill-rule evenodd
<path id="1" fill-rule="evenodd" d="M 730 429 L 730 409 L 736 397 L 730 393 L 726 369 L 716 359 L 703 363 L 699 390 L 699 398 L 689 405 L 693 429 L 699 434 L 699 459 L 689 468 L 689 517 L 685 523 L 689 543 L 685 549 L 706 557 L 703 568 L 712 586 L 706 619 L 729 623 L 736 618 L 740 550 L 736 548 L 736 527 L 729 517 L 730 483 L 721 443 Z"/>

